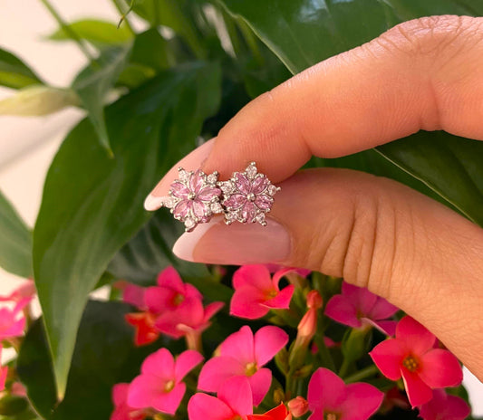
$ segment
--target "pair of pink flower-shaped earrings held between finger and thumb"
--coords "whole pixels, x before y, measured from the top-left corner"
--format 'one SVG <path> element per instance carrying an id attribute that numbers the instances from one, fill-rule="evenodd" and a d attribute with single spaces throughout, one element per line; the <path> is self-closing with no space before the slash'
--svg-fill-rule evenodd
<path id="1" fill-rule="evenodd" d="M 225 215 L 225 223 L 259 223 L 266 226 L 266 214 L 280 190 L 266 175 L 258 173 L 251 162 L 243 172 L 235 172 L 227 181 L 218 181 L 217 171 L 205 174 L 201 169 L 178 169 L 179 177 L 169 188 L 162 205 L 191 232 L 207 223 L 213 215 Z"/>

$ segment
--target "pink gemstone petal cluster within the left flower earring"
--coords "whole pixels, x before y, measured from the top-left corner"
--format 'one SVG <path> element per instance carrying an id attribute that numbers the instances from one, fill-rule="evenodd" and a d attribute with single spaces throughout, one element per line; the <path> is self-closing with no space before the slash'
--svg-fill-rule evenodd
<path id="1" fill-rule="evenodd" d="M 198 169 L 194 173 L 186 171 L 179 181 L 171 184 L 169 193 L 177 202 L 172 209 L 175 218 L 185 221 L 190 218 L 201 223 L 208 222 L 211 215 L 211 203 L 217 196 L 221 195 L 221 190 L 216 186 L 207 184 L 205 174 Z"/>

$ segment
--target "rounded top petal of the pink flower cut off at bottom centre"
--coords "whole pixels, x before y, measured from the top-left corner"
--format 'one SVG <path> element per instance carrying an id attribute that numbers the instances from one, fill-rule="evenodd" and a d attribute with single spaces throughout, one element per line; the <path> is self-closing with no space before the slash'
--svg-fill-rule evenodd
<path id="1" fill-rule="evenodd" d="M 237 415 L 253 414 L 252 389 L 246 377 L 230 377 L 227 379 L 218 391 L 218 398 L 225 402 Z"/>

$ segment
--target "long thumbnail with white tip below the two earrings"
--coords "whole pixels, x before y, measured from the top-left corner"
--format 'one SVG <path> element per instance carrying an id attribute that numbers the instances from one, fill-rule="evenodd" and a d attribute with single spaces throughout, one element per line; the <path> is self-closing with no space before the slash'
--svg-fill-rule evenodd
<path id="1" fill-rule="evenodd" d="M 183 260 L 212 264 L 284 262 L 290 253 L 290 235 L 282 224 L 267 219 L 260 224 L 230 224 L 219 217 L 182 234 L 173 253 Z"/>

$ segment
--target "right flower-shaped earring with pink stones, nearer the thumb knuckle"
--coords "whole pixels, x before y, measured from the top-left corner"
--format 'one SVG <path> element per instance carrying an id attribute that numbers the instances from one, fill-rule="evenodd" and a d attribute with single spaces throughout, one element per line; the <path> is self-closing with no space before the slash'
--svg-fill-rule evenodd
<path id="1" fill-rule="evenodd" d="M 258 173 L 255 162 L 244 172 L 235 172 L 228 181 L 218 182 L 223 191 L 221 204 L 225 207 L 225 223 L 256 223 L 266 226 L 266 213 L 274 204 L 274 196 L 280 191 L 264 174 Z"/>

